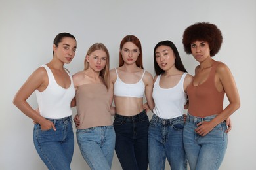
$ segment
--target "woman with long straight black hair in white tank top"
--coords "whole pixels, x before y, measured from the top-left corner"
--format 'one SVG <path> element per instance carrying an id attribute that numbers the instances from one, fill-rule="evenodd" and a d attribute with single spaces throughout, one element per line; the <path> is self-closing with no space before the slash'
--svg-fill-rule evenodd
<path id="1" fill-rule="evenodd" d="M 183 146 L 186 90 L 192 76 L 186 73 L 179 52 L 171 41 L 161 41 L 154 48 L 153 99 L 155 107 L 148 130 L 150 169 L 165 169 L 165 160 L 172 170 L 187 169 Z"/>

